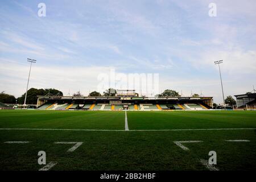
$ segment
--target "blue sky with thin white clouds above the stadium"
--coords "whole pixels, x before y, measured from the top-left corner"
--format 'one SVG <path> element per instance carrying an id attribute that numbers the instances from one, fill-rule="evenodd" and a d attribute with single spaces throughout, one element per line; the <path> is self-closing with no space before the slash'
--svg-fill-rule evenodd
<path id="1" fill-rule="evenodd" d="M 38 15 L 39 3 L 46 5 L 46 16 Z M 216 4 L 216 16 L 209 16 L 209 3 Z M 99 76 L 114 70 L 158 74 L 158 92 L 198 93 L 218 104 L 214 61 L 223 60 L 225 97 L 256 86 L 255 9 L 254 0 L 2 0 L 0 92 L 26 92 L 31 58 L 37 61 L 29 88 L 86 96 L 102 92 Z"/>

